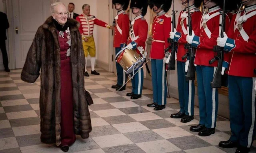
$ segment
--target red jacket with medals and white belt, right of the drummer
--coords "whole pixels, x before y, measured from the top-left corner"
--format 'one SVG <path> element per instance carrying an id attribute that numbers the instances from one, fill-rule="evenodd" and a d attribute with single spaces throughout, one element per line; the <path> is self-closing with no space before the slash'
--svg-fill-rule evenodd
<path id="1" fill-rule="evenodd" d="M 151 59 L 163 59 L 164 49 L 169 47 L 167 39 L 170 37 L 171 17 L 167 14 L 156 16 L 152 27 Z M 161 42 L 158 42 L 161 41 Z"/>

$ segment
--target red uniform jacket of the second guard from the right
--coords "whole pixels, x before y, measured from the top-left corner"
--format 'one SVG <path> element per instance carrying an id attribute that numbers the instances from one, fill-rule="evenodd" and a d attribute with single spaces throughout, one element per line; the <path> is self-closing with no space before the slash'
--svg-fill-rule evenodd
<path id="1" fill-rule="evenodd" d="M 213 8 L 214 9 L 214 8 Z M 209 16 L 212 14 L 219 12 L 219 9 L 215 9 L 215 11 L 212 11 L 209 13 Z M 202 23 L 203 24 L 203 23 Z M 209 67 L 217 67 L 218 62 L 214 62 L 210 65 L 209 61 L 214 58 L 215 52 L 213 51 L 213 47 L 217 45 L 217 38 L 219 37 L 220 29 L 220 15 L 215 16 L 214 18 L 211 18 L 206 22 L 208 29 L 211 31 L 210 38 L 206 34 L 206 31 L 204 30 L 204 27 L 200 25 L 200 22 L 198 24 L 198 28 L 195 31 L 195 35 L 199 36 L 199 45 L 196 49 L 196 56 L 194 63 L 196 65 L 204 65 Z M 228 27 L 230 26 L 230 20 L 228 16 L 226 16 L 226 29 L 225 31 L 228 31 Z M 194 41 L 194 39 L 193 39 Z"/>

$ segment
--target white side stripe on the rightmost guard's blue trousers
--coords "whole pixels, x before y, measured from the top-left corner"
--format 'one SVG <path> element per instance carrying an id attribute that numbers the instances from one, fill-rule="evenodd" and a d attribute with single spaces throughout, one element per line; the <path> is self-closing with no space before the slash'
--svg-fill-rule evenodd
<path id="1" fill-rule="evenodd" d="M 247 145 L 248 148 L 251 147 L 252 145 L 252 134 L 253 134 L 254 122 L 255 122 L 255 93 L 256 93 L 256 91 L 254 90 L 255 79 L 256 78 L 252 78 L 252 125 L 248 133 L 248 145 Z"/>

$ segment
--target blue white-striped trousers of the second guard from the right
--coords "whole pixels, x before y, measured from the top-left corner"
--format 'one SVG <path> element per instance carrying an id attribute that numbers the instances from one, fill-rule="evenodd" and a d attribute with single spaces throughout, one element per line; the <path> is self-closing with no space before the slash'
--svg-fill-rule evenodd
<path id="1" fill-rule="evenodd" d="M 216 127 L 218 114 L 218 89 L 211 88 L 212 79 L 216 67 L 200 66 L 196 67 L 199 99 L 199 124 L 206 128 Z"/>

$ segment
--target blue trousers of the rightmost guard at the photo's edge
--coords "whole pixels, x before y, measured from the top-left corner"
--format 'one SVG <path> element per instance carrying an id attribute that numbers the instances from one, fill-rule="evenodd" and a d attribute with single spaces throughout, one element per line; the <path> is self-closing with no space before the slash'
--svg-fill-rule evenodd
<path id="1" fill-rule="evenodd" d="M 228 76 L 230 141 L 251 147 L 255 136 L 255 78 Z"/>

